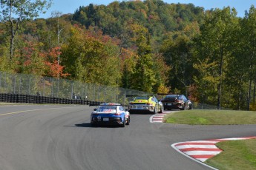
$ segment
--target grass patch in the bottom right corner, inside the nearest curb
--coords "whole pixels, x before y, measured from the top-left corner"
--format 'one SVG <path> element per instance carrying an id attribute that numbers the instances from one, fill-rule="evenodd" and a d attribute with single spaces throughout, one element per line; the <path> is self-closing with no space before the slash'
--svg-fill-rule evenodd
<path id="1" fill-rule="evenodd" d="M 256 169 L 256 139 L 229 140 L 217 143 L 216 146 L 223 150 L 220 154 L 206 160 L 206 164 L 216 169 Z"/>

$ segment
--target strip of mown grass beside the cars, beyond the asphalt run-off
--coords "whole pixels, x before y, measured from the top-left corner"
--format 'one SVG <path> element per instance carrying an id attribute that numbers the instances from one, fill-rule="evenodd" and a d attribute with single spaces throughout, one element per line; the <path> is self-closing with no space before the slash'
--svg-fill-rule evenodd
<path id="1" fill-rule="evenodd" d="M 168 114 L 164 122 L 190 125 L 256 124 L 256 112 L 193 109 Z"/>

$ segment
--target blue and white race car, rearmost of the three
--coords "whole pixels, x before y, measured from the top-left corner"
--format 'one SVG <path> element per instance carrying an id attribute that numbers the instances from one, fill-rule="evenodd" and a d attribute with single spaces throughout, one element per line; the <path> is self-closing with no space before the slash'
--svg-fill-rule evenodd
<path id="1" fill-rule="evenodd" d="M 130 113 L 119 103 L 99 104 L 91 113 L 91 126 L 99 124 L 125 127 L 130 124 Z"/>

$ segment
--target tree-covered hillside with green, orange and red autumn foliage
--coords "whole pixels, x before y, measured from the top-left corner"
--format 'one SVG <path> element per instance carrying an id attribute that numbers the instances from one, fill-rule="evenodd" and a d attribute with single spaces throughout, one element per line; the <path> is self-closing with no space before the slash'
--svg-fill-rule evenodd
<path id="1" fill-rule="evenodd" d="M 1 17 L 0 33 L 1 72 L 181 92 L 196 103 L 256 109 L 253 6 L 240 18 L 230 7 L 114 1 L 46 19 Z"/>

